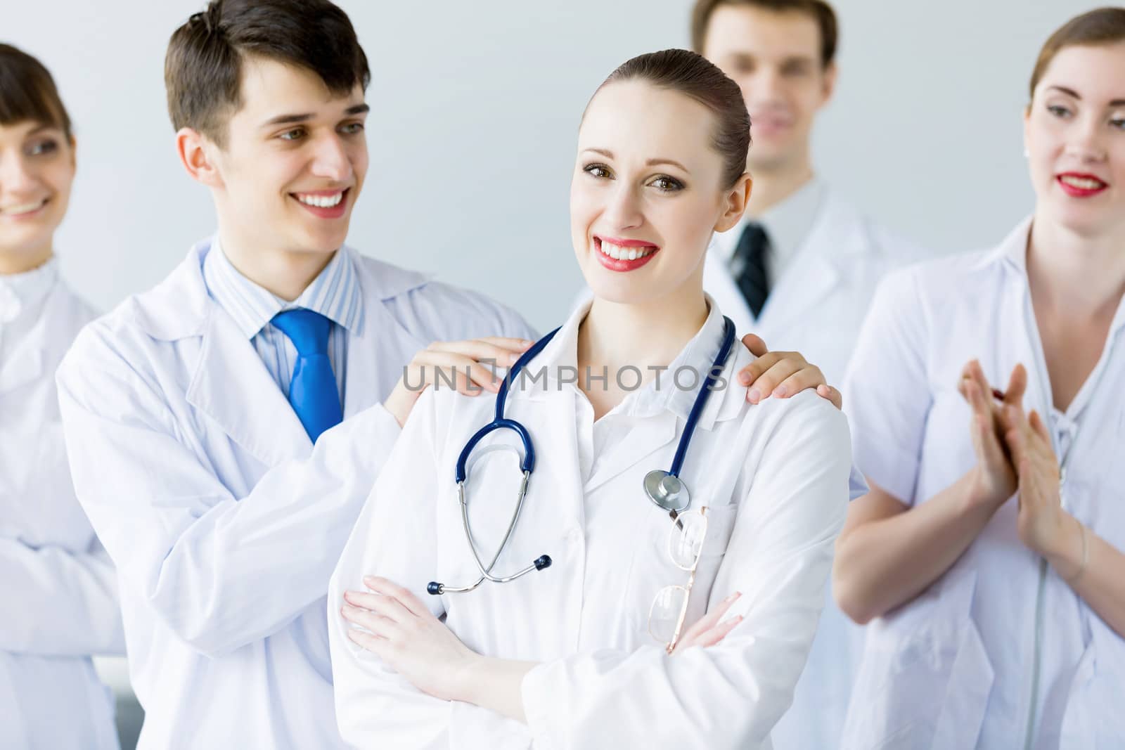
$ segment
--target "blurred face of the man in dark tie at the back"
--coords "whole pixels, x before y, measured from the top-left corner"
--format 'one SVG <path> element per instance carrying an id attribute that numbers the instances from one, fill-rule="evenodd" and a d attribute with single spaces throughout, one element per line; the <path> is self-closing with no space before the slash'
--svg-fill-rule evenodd
<path id="1" fill-rule="evenodd" d="M 820 27 L 809 13 L 719 6 L 703 55 L 742 90 L 750 114 L 750 172 L 808 159 L 812 123 L 831 96 L 836 67 L 821 63 Z"/>

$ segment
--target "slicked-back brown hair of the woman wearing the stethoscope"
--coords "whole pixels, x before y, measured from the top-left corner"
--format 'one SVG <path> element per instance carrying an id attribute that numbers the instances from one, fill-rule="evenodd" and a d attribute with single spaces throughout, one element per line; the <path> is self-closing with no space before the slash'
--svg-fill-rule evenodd
<path id="1" fill-rule="evenodd" d="M 741 89 L 714 63 L 687 49 L 650 52 L 622 63 L 597 91 L 622 81 L 646 81 L 678 91 L 710 109 L 716 119 L 711 147 L 723 161 L 722 187 L 731 188 L 738 182 L 746 171 L 746 153 L 750 147 L 750 116 Z"/>

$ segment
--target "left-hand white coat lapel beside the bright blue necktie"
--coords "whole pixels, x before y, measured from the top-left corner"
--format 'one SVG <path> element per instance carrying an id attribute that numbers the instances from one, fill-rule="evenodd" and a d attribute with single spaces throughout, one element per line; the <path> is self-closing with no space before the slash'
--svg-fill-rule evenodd
<path id="1" fill-rule="evenodd" d="M 308 434 L 258 352 L 217 305 L 202 334 L 187 397 L 268 466 L 304 458 L 312 450 Z"/>

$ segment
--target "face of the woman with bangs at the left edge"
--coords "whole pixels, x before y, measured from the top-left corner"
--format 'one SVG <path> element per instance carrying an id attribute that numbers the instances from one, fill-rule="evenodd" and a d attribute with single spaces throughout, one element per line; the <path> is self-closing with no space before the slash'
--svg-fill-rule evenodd
<path id="1" fill-rule="evenodd" d="M 44 263 L 66 215 L 74 147 L 58 127 L 0 125 L 0 273 Z"/>

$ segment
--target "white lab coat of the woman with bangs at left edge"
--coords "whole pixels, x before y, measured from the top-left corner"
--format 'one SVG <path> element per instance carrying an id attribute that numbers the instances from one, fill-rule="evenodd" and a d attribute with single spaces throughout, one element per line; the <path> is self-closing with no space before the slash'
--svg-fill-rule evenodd
<path id="1" fill-rule="evenodd" d="M 54 282 L 0 362 L 0 747 L 110 750 L 114 697 L 90 654 L 125 642 L 112 564 L 74 499 L 54 380 L 93 311 L 54 268 L 36 272 Z"/>

